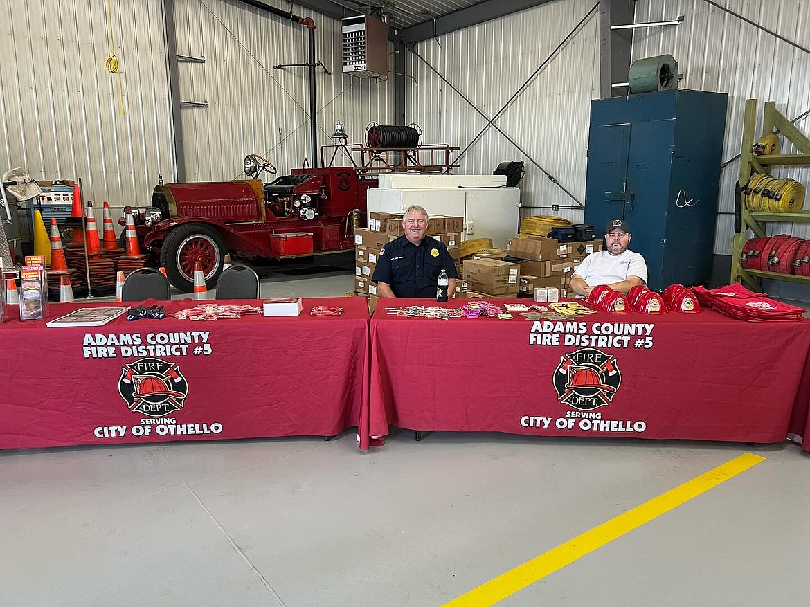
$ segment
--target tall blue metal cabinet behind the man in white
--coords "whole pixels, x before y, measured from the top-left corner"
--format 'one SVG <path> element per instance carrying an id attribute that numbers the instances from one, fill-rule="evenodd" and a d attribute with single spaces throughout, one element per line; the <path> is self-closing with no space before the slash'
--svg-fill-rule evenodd
<path id="1" fill-rule="evenodd" d="M 726 106 L 684 90 L 590 102 L 585 223 L 625 219 L 651 289 L 709 280 Z"/>

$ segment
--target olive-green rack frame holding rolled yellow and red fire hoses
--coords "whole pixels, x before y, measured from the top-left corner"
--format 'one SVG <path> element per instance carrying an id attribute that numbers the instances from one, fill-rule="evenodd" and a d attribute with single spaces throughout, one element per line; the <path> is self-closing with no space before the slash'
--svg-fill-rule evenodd
<path id="1" fill-rule="evenodd" d="M 754 270 L 742 266 L 743 248 L 746 242 L 746 231 L 751 230 L 755 237 L 765 238 L 765 224 L 810 223 L 810 212 L 801 210 L 796 213 L 774 213 L 751 211 L 746 208 L 744 186 L 752 179 L 752 173 L 770 173 L 771 167 L 810 165 L 810 139 L 804 136 L 791 121 L 780 113 L 774 101 L 765 103 L 762 116 L 762 133 L 781 133 L 796 146 L 799 154 L 755 155 L 753 148 L 757 142 L 757 100 L 745 101 L 743 118 L 743 143 L 740 155 L 740 182 L 738 196 L 735 200 L 735 235 L 731 241 L 731 283 L 746 282 L 756 291 L 762 291 L 761 279 L 770 278 L 788 282 L 810 284 L 810 277 L 770 270 Z"/>

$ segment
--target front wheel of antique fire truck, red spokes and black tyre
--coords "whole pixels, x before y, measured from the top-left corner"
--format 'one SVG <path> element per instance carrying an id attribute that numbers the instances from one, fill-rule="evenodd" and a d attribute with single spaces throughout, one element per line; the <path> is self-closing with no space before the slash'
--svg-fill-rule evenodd
<path id="1" fill-rule="evenodd" d="M 194 262 L 203 265 L 206 287 L 215 287 L 222 273 L 225 254 L 224 240 L 213 227 L 204 223 L 185 223 L 166 236 L 160 248 L 160 265 L 168 279 L 183 293 L 194 291 Z"/>

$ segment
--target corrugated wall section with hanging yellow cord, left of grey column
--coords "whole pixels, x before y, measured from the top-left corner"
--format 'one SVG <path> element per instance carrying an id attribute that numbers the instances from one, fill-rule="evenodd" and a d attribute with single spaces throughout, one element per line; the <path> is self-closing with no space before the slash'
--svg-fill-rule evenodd
<path id="1" fill-rule="evenodd" d="M 0 171 L 81 177 L 89 200 L 143 204 L 158 172 L 173 175 L 161 3 L 113 2 L 123 116 L 118 76 L 104 70 L 107 2 L 0 7 Z"/>

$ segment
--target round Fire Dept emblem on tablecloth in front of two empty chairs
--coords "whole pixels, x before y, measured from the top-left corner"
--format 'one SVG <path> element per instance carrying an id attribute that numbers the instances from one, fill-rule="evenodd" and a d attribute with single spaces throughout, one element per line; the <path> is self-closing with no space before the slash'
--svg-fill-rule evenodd
<path id="1" fill-rule="evenodd" d="M 122 368 L 118 393 L 130 410 L 160 418 L 183 408 L 189 384 L 177 363 L 139 359 Z"/>

